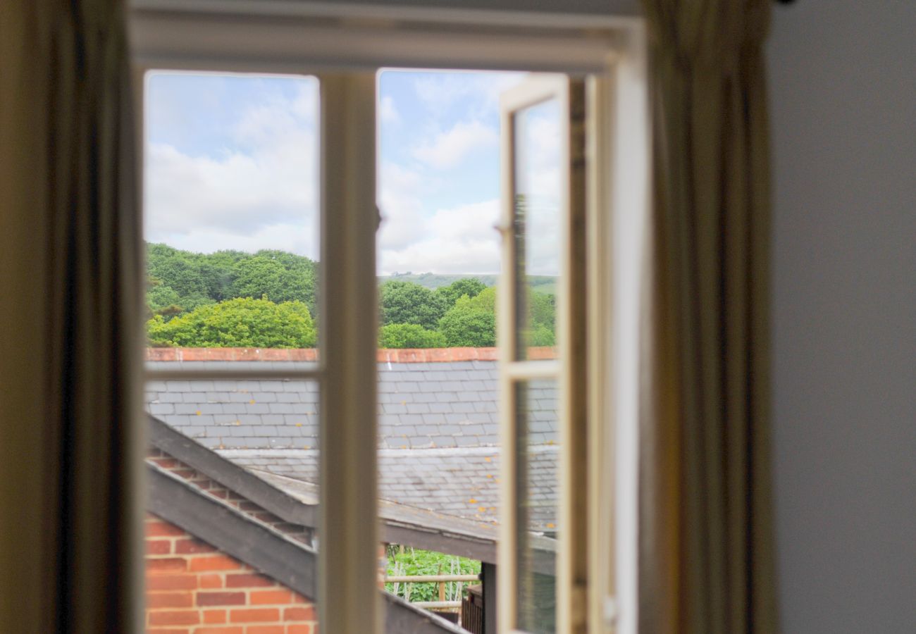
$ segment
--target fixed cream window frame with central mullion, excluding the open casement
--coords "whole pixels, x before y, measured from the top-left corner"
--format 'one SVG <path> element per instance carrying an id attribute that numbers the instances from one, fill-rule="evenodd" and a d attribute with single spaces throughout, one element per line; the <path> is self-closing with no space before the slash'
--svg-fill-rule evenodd
<path id="1" fill-rule="evenodd" d="M 375 71 L 385 67 L 589 73 L 587 260 L 594 275 L 588 282 L 588 336 L 597 354 L 588 361 L 586 477 L 594 512 L 588 519 L 587 605 L 575 611 L 587 613 L 590 634 L 636 632 L 634 345 L 639 243 L 649 207 L 648 91 L 642 20 L 615 16 L 614 3 L 608 5 L 609 16 L 284 0 L 132 5 L 129 28 L 139 77 L 162 69 L 312 74 L 321 81 L 322 209 L 334 211 L 322 213 L 322 289 L 334 289 L 322 307 L 322 361 L 315 368 L 245 369 L 218 377 L 322 383 L 319 556 L 320 562 L 333 561 L 333 567 L 320 564 L 318 603 L 326 634 L 381 631 L 380 603 L 365 598 L 376 593 L 377 558 L 377 217 L 375 180 L 366 178 L 375 174 L 375 152 L 365 143 L 375 136 L 365 122 L 374 125 Z M 629 10 L 631 3 L 620 5 Z M 142 112 L 142 93 L 137 104 Z M 325 143 L 330 139 L 335 142 Z M 345 310 L 354 305 L 366 310 Z M 328 336 L 333 327 L 348 336 Z M 354 333 L 363 334 L 349 336 Z M 185 379 L 217 376 L 176 373 Z M 149 377 L 174 376 L 158 371 Z"/>

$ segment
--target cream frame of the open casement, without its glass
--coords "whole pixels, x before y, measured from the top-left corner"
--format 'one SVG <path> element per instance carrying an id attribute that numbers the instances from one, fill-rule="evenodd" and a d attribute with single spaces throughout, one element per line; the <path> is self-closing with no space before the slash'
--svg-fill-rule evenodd
<path id="1" fill-rule="evenodd" d="M 515 499 L 518 491 L 519 405 L 518 385 L 549 379 L 555 382 L 560 395 L 557 421 L 560 424 L 560 449 L 557 460 L 557 517 L 560 535 L 555 557 L 557 605 L 556 627 L 562 634 L 585 632 L 587 617 L 583 607 L 588 588 L 588 559 L 586 556 L 587 465 L 586 421 L 588 377 L 586 376 L 586 293 L 587 268 L 584 246 L 586 220 L 584 157 L 584 82 L 564 75 L 532 74 L 513 86 L 501 99 L 502 128 L 502 272 L 499 289 L 499 348 L 500 348 L 500 419 L 501 495 L 500 499 Z M 559 359 L 528 360 L 519 358 L 518 289 L 526 286 L 518 279 L 518 213 L 517 187 L 517 125 L 516 116 L 525 110 L 552 102 L 557 104 L 560 121 L 560 191 L 558 192 L 558 234 L 555 245 L 560 265 L 557 289 L 556 337 Z M 575 114 L 574 114 L 575 113 Z M 578 247 L 578 248 L 577 248 Z M 583 466 L 585 468 L 583 468 Z M 518 632 L 518 504 L 504 505 L 500 511 L 499 549 L 499 630 Z"/>

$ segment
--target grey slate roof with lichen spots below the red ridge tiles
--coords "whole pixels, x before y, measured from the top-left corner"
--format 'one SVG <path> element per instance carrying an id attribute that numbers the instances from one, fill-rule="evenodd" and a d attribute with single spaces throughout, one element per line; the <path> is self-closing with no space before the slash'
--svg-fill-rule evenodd
<path id="1" fill-rule="evenodd" d="M 168 363 L 168 362 L 163 362 Z M 208 361 L 204 367 L 238 362 Z M 495 521 L 499 473 L 495 361 L 380 363 L 383 499 Z M 178 432 L 263 474 L 318 480 L 318 386 L 311 381 L 151 381 L 147 410 Z M 557 395 L 529 388 L 530 528 L 556 530 Z"/>

